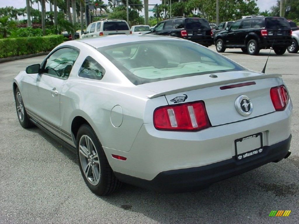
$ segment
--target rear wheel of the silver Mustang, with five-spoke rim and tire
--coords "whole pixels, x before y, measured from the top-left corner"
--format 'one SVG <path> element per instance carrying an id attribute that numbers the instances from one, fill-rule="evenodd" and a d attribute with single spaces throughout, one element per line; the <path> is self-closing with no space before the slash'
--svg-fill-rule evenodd
<path id="1" fill-rule="evenodd" d="M 78 130 L 77 154 L 83 179 L 94 194 L 108 195 L 120 188 L 100 141 L 87 124 Z"/>

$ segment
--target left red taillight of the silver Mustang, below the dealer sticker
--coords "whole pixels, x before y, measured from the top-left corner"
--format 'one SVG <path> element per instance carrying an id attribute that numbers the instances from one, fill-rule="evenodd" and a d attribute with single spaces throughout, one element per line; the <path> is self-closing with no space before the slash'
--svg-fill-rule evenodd
<path id="1" fill-rule="evenodd" d="M 153 119 L 159 130 L 199 131 L 211 126 L 203 101 L 157 108 Z"/>

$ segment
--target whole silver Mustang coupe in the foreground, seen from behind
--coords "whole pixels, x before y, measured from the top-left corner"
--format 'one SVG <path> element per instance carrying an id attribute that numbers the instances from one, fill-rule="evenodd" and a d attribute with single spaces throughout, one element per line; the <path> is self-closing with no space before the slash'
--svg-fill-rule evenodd
<path id="1" fill-rule="evenodd" d="M 92 192 L 121 182 L 193 191 L 290 154 L 292 102 L 277 74 L 156 35 L 68 41 L 13 80 L 24 128 L 77 153 Z"/>

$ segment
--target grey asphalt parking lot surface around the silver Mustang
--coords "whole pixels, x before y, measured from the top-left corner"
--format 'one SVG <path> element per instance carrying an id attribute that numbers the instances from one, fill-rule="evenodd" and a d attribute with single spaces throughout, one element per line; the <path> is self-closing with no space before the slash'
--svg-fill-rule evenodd
<path id="1" fill-rule="evenodd" d="M 214 46 L 210 47 L 215 50 Z M 258 56 L 227 49 L 223 55 L 261 71 Z M 18 122 L 12 80 L 45 56 L 0 64 L 0 223 L 298 223 L 299 53 L 270 53 L 266 73 L 280 73 L 293 102 L 291 156 L 201 191 L 160 194 L 131 185 L 107 197 L 89 191 L 76 155 L 38 128 Z M 281 130 L 283 131 L 283 130 Z M 291 210 L 288 217 L 269 217 Z"/>

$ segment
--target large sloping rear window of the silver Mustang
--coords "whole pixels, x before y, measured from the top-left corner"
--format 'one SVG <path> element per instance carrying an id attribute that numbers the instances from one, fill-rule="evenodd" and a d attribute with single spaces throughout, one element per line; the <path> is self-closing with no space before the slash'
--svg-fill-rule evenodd
<path id="1" fill-rule="evenodd" d="M 135 85 L 208 73 L 246 70 L 199 44 L 143 41 L 97 49 Z"/>

